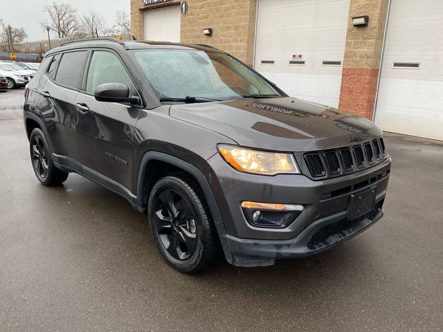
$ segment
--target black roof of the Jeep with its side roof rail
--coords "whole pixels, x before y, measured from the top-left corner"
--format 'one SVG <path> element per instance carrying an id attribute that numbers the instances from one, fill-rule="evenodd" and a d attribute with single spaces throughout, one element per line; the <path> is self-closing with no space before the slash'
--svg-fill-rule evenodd
<path id="1" fill-rule="evenodd" d="M 109 48 L 125 48 L 127 50 L 134 49 L 150 49 L 150 48 L 170 48 L 170 49 L 188 49 L 188 50 L 204 50 L 218 51 L 217 48 L 204 44 L 181 44 L 171 42 L 152 42 L 152 41 L 123 41 L 116 38 L 87 38 L 64 42 L 60 46 L 48 51 L 47 54 L 57 53 L 62 50 L 71 50 L 75 48 L 89 48 L 107 46 Z"/>

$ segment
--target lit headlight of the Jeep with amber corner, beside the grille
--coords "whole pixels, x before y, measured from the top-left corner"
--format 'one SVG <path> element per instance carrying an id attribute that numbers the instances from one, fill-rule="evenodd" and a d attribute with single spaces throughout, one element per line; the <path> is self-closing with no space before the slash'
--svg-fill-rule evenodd
<path id="1" fill-rule="evenodd" d="M 240 172 L 264 175 L 300 174 L 293 154 L 257 151 L 230 145 L 219 145 L 218 149 L 226 163 Z"/>

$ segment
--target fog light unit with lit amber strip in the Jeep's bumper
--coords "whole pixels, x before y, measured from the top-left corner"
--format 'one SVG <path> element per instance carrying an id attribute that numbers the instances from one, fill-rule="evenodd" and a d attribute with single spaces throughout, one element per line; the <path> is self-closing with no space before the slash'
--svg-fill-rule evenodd
<path id="1" fill-rule="evenodd" d="M 303 211 L 302 205 L 249 201 L 242 202 L 242 208 L 248 222 L 262 228 L 285 228 Z"/>

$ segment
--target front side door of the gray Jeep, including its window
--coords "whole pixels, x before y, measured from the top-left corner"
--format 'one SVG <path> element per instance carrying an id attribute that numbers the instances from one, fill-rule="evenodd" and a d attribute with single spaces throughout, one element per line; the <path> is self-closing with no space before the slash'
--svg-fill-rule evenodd
<path id="1" fill-rule="evenodd" d="M 93 93 L 104 83 L 125 84 L 132 95 L 138 95 L 117 53 L 105 49 L 92 51 L 82 90 L 75 99 L 82 172 L 125 196 L 133 196 L 134 131 L 141 107 L 98 102 Z"/>

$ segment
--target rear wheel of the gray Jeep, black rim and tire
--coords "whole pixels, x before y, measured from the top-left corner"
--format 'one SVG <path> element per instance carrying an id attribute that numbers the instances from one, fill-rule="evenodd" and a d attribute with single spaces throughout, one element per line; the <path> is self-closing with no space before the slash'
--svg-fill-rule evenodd
<path id="1" fill-rule="evenodd" d="M 69 173 L 55 167 L 44 132 L 35 128 L 29 138 L 30 160 L 35 176 L 42 185 L 61 185 Z"/>

